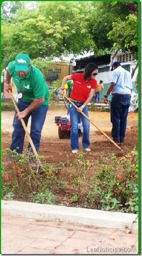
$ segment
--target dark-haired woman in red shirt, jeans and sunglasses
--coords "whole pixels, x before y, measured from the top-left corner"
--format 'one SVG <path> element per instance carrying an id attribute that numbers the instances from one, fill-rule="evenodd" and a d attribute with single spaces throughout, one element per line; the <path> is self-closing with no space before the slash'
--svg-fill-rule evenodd
<path id="1" fill-rule="evenodd" d="M 79 150 L 78 142 L 78 118 L 81 118 L 83 126 L 83 135 L 82 135 L 82 146 L 86 151 L 90 151 L 89 145 L 89 121 L 80 113 L 84 112 L 88 116 L 88 106 L 87 104 L 91 101 L 94 90 L 97 87 L 97 80 L 94 78 L 98 75 L 98 66 L 94 63 L 89 63 L 85 70 L 84 74 L 75 73 L 64 77 L 60 93 L 64 93 L 64 85 L 67 80 L 73 80 L 73 89 L 70 94 L 70 100 L 78 107 L 76 109 L 72 104 L 69 103 L 68 109 L 71 120 L 71 150 L 72 153 L 77 153 Z"/>

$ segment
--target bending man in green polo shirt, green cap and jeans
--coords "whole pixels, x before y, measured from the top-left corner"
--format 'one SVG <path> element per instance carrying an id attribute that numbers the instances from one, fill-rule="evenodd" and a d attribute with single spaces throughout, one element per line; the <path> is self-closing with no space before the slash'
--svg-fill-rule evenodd
<path id="1" fill-rule="evenodd" d="M 26 54 L 18 54 L 15 60 L 8 65 L 5 88 L 12 90 L 11 78 L 17 87 L 17 106 L 13 120 L 13 135 L 11 150 L 16 149 L 22 153 L 25 138 L 21 118 L 27 126 L 31 116 L 30 137 L 36 148 L 39 149 L 41 131 L 45 121 L 49 104 L 49 88 L 42 73 L 36 67 L 30 65 L 30 58 Z M 31 145 L 28 145 L 31 148 Z"/>

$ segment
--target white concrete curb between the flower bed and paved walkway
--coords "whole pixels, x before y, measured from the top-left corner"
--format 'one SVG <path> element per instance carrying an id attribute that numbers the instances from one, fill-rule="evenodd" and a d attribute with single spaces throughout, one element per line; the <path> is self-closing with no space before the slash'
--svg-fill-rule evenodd
<path id="1" fill-rule="evenodd" d="M 2 214 L 137 231 L 137 215 L 57 205 L 2 200 Z"/>

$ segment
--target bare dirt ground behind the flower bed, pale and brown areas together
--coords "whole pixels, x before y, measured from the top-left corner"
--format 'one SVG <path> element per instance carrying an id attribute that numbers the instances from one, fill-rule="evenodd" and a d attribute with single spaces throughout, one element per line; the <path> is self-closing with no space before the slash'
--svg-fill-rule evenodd
<path id="1" fill-rule="evenodd" d="M 46 115 L 46 120 L 42 130 L 42 137 L 39 155 L 44 157 L 44 161 L 47 163 L 63 163 L 66 161 L 72 162 L 75 155 L 70 150 L 70 139 L 59 139 L 58 126 L 55 123 L 55 116 L 66 115 L 66 109 L 49 110 Z M 13 116 L 14 112 L 2 112 L 2 149 L 9 148 L 11 144 L 11 137 L 13 131 Z M 105 132 L 111 138 L 111 122 L 109 112 L 89 112 L 90 120 L 103 132 Z M 91 152 L 86 152 L 85 157 L 88 159 L 100 159 L 103 155 L 115 153 L 116 155 L 126 154 L 137 147 L 137 124 L 138 113 L 129 113 L 127 119 L 127 130 L 125 143 L 123 146 L 124 152 L 118 149 L 112 144 L 101 132 L 97 130 L 92 124 L 90 124 L 90 149 Z M 30 121 L 28 124 L 28 130 L 30 129 Z M 79 138 L 80 150 L 82 138 Z M 25 147 L 28 141 L 25 139 Z"/>

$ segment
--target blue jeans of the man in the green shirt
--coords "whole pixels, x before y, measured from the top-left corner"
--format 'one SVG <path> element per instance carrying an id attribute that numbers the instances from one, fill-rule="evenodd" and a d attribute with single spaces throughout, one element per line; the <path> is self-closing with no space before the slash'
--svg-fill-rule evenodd
<path id="1" fill-rule="evenodd" d="M 21 112 L 25 110 L 30 104 L 19 100 L 17 105 L 18 105 L 19 111 Z M 23 118 L 27 126 L 29 117 L 31 116 L 30 137 L 33 141 L 36 151 L 38 151 L 39 149 L 41 131 L 42 131 L 42 127 L 45 121 L 47 111 L 48 111 L 48 106 L 40 105 L 38 108 L 36 108 L 35 110 L 33 110 L 31 113 L 29 113 Z M 24 138 L 25 138 L 25 130 L 22 126 L 21 121 L 18 120 L 18 118 L 16 117 L 16 114 L 17 114 L 17 111 L 15 111 L 15 116 L 13 120 L 14 131 L 12 134 L 12 144 L 10 149 L 11 150 L 16 149 L 17 153 L 22 154 Z M 28 145 L 28 148 L 31 148 L 30 144 Z"/>

